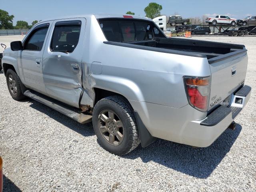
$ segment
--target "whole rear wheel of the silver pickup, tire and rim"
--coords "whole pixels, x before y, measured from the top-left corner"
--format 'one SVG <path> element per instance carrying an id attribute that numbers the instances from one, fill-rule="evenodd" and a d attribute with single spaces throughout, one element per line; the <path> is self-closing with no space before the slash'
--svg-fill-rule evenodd
<path id="1" fill-rule="evenodd" d="M 102 147 L 125 155 L 140 144 L 132 107 L 122 96 L 109 96 L 97 102 L 92 113 L 94 132 Z"/>

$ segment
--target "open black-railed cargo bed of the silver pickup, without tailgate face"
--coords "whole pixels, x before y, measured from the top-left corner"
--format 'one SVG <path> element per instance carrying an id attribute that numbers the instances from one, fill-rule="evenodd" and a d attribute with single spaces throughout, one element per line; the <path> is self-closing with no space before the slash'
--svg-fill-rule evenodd
<path id="1" fill-rule="evenodd" d="M 210 42 L 202 40 L 190 40 L 181 38 L 159 38 L 151 41 L 138 42 L 104 42 L 117 46 L 127 46 L 170 54 L 207 57 L 209 63 L 216 62 L 242 52 L 246 52 L 244 45 Z"/>

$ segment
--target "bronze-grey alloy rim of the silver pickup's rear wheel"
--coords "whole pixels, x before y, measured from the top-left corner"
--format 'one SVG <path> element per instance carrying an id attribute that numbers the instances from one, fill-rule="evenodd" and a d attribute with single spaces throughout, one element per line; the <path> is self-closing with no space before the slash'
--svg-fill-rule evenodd
<path id="1" fill-rule="evenodd" d="M 118 146 L 124 140 L 124 126 L 118 115 L 112 110 L 102 110 L 98 116 L 98 126 L 104 140 Z"/>

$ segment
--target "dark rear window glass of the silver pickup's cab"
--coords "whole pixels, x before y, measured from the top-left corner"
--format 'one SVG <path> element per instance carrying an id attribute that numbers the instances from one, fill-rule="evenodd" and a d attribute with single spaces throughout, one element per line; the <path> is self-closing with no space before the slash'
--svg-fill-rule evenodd
<path id="1" fill-rule="evenodd" d="M 152 26 L 149 22 L 99 20 L 108 41 L 133 42 L 152 40 Z"/>

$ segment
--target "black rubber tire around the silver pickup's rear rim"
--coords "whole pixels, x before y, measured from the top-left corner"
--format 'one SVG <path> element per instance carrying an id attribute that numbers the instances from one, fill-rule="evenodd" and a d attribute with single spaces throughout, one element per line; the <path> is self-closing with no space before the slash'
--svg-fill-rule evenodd
<path id="1" fill-rule="evenodd" d="M 122 123 L 123 140 L 119 144 L 114 145 L 113 142 L 111 144 L 109 141 L 107 141 L 106 137 L 103 136 L 103 133 L 100 130 L 100 126 L 102 127 L 104 126 L 102 125 L 101 114 L 105 110 L 114 112 L 115 114 L 114 117 L 119 118 L 119 120 Z M 107 121 L 112 121 L 110 120 L 110 116 L 105 121 L 106 122 L 105 127 L 108 126 Z M 117 155 L 125 155 L 131 152 L 132 150 L 134 150 L 140 144 L 138 127 L 137 127 L 136 119 L 133 113 L 133 109 L 130 106 L 129 102 L 122 96 L 108 96 L 98 101 L 92 113 L 92 124 L 93 124 L 94 132 L 98 138 L 99 143 L 105 150 L 111 153 L 114 153 Z M 105 130 L 105 132 L 106 134 L 109 134 L 109 138 L 110 138 L 110 134 L 111 134 L 110 131 L 114 131 L 113 130 L 114 128 L 112 126 L 111 128 L 108 127 L 108 129 L 109 131 Z M 118 142 L 116 141 L 116 139 L 117 137 L 114 136 L 114 140 L 115 140 L 114 142 Z"/>

